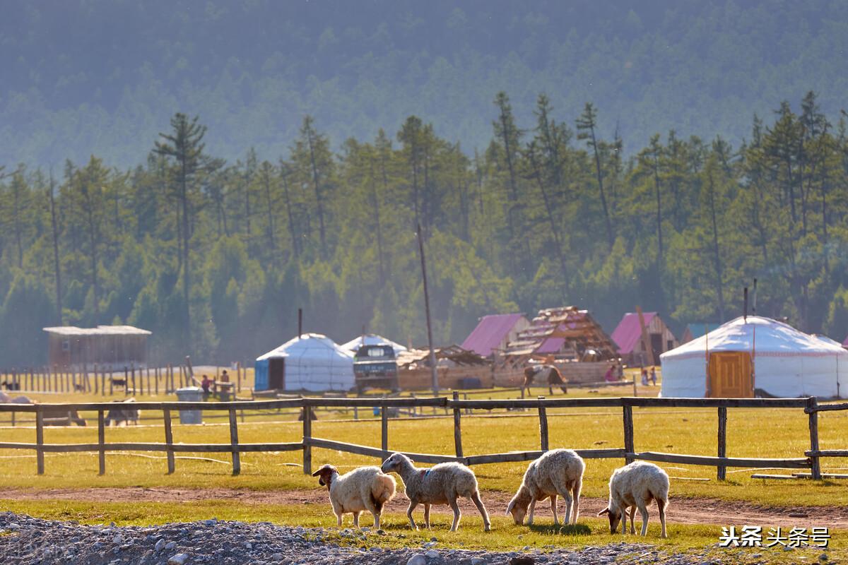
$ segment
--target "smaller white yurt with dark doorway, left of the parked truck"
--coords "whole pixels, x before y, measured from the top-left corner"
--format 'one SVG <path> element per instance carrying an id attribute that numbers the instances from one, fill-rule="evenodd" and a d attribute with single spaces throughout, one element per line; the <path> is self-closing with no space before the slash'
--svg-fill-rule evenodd
<path id="1" fill-rule="evenodd" d="M 326 335 L 304 334 L 258 357 L 255 390 L 349 391 L 354 356 Z"/>

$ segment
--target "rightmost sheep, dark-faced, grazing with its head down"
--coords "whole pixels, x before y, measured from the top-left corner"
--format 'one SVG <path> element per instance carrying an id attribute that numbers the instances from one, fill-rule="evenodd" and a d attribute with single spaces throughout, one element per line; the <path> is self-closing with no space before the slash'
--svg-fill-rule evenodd
<path id="1" fill-rule="evenodd" d="M 635 534 L 633 516 L 636 508 L 642 515 L 642 535 L 648 533 L 648 505 L 656 500 L 660 509 L 662 537 L 666 535 L 666 508 L 668 507 L 668 475 L 654 463 L 634 461 L 622 468 L 617 468 L 610 477 L 610 504 L 598 512 L 607 514 L 610 518 L 610 533 L 615 534 L 618 521 L 622 521 L 622 534 L 627 533 L 628 515 L 630 508 L 630 533 Z"/>

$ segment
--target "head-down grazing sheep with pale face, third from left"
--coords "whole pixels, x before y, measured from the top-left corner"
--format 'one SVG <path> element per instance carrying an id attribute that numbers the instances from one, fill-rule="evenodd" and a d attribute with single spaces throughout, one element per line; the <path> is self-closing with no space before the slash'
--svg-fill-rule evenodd
<path id="1" fill-rule="evenodd" d="M 564 523 L 577 523 L 577 517 L 580 515 L 580 487 L 583 485 L 585 468 L 583 458 L 570 449 L 554 449 L 544 453 L 542 457 L 527 465 L 522 485 L 518 487 L 516 496 L 512 497 L 510 506 L 506 507 L 506 513 L 511 513 L 512 519 L 520 526 L 524 523 L 527 507 L 530 507 L 527 525 L 533 525 L 536 502 L 544 501 L 550 496 L 554 524 L 558 526 L 560 519 L 556 515 L 556 496 L 559 495 L 566 500 Z"/>

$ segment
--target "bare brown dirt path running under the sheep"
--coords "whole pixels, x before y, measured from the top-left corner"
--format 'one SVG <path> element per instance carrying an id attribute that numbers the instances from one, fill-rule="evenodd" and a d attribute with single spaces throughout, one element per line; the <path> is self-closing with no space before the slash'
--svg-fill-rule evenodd
<path id="1" fill-rule="evenodd" d="M 172 489 L 172 488 L 92 488 L 92 489 L 7 489 L 0 491 L 0 499 L 15 500 L 77 500 L 95 502 L 176 502 L 176 501 L 227 501 L 242 504 L 328 504 L 325 490 L 246 490 L 246 489 Z M 510 495 L 485 491 L 483 501 L 491 514 L 505 512 Z M 405 512 L 407 499 L 400 494 L 389 506 L 389 512 Z M 565 508 L 560 501 L 560 515 Z M 606 506 L 606 500 L 581 497 L 580 512 L 594 515 Z M 471 501 L 460 501 L 462 511 L 477 513 Z M 433 507 L 433 512 L 450 512 L 449 507 Z M 421 508 L 419 508 L 421 512 Z M 551 517 L 550 506 L 537 505 L 537 516 L 542 520 Z M 654 512 L 652 512 L 653 514 Z M 827 526 L 848 528 L 848 507 L 759 507 L 742 501 L 718 499 L 672 498 L 668 511 L 672 523 L 715 523 L 719 525 L 803 527 Z"/>

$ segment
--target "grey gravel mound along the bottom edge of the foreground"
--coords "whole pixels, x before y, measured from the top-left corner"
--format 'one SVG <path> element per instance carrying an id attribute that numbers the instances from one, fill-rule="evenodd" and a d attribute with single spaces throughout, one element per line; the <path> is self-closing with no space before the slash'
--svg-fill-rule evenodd
<path id="1" fill-rule="evenodd" d="M 339 530 L 333 537 L 338 539 Z M 488 552 L 445 550 L 438 542 L 408 549 L 360 549 L 327 540 L 328 530 L 291 528 L 267 522 L 222 522 L 215 518 L 192 523 L 167 523 L 155 527 L 86 526 L 0 512 L 0 562 L 3 565 L 74 563 L 84 565 L 264 565 L 271 563 L 349 563 L 353 565 L 531 565 L 577 563 L 611 565 L 664 562 L 689 565 L 695 556 L 667 556 L 651 546 L 611 544 L 579 551 Z M 352 545 L 374 541 L 379 532 L 344 529 Z M 369 544 L 370 545 L 370 544 Z"/>

